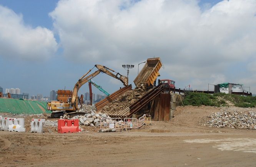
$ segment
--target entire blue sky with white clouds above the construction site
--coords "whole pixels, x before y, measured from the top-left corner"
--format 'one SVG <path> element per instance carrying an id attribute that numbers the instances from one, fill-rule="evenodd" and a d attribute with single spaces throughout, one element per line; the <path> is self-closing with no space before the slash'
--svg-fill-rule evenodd
<path id="1" fill-rule="evenodd" d="M 121 65 L 133 64 L 133 83 L 138 63 L 160 57 L 159 79 L 173 79 L 177 88 L 229 82 L 256 93 L 255 6 L 255 0 L 0 0 L 0 86 L 50 96 L 72 90 L 95 64 L 125 76 Z M 123 86 L 104 74 L 93 81 L 110 93 Z M 88 84 L 78 94 L 85 92 Z"/>

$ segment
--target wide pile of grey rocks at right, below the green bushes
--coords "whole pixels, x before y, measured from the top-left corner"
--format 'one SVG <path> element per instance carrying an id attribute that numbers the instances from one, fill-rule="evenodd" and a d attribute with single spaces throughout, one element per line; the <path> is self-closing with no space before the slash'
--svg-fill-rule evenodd
<path id="1" fill-rule="evenodd" d="M 210 118 L 210 120 L 208 120 Z M 246 128 L 256 130 L 256 114 L 255 112 L 241 112 L 241 111 L 224 111 L 212 113 L 208 117 L 206 123 L 201 125 L 208 125 L 209 127 L 231 127 L 231 128 Z"/>

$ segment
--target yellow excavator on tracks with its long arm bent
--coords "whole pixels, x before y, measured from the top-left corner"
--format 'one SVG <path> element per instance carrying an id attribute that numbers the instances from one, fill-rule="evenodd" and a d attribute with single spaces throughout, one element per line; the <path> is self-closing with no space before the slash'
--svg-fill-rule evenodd
<path id="1" fill-rule="evenodd" d="M 98 68 L 98 70 L 95 71 L 93 74 L 88 75 L 88 73 L 90 73 L 94 67 Z M 85 75 L 83 75 L 80 79 L 78 79 L 78 82 L 74 86 L 72 97 L 69 97 L 67 103 L 60 103 L 59 101 L 52 101 L 47 103 L 47 110 L 53 111 L 51 114 L 52 118 L 59 118 L 65 113 L 68 113 L 69 115 L 72 115 L 72 113 L 77 114 L 78 112 L 75 111 L 79 110 L 82 105 L 82 103 L 80 102 L 80 98 L 77 96 L 79 88 L 99 73 L 105 73 L 112 76 L 113 78 L 120 80 L 124 86 L 128 85 L 128 78 L 126 76 L 120 75 L 120 73 L 116 73 L 114 70 L 111 70 L 106 66 L 95 65 L 94 67 L 89 70 Z M 110 71 L 116 73 L 116 75 Z M 78 105 L 78 103 L 80 103 L 80 105 Z"/>

